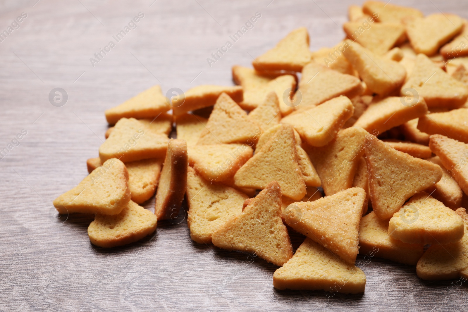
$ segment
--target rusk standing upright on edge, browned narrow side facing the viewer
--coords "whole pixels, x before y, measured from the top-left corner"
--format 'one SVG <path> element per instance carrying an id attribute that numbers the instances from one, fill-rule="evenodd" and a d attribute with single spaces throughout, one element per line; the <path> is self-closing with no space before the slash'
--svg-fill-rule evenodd
<path id="1" fill-rule="evenodd" d="M 181 139 L 170 139 L 154 202 L 154 214 L 158 220 L 178 218 L 187 188 L 187 167 L 187 143 Z"/>

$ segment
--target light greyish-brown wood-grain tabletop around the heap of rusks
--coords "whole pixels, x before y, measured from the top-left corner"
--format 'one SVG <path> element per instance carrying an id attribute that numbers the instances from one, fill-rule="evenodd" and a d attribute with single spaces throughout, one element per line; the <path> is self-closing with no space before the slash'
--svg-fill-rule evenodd
<path id="1" fill-rule="evenodd" d="M 194 243 L 186 220 L 160 222 L 156 235 L 104 250 L 89 243 L 92 218 L 51 218 L 52 200 L 80 182 L 86 159 L 97 156 L 105 109 L 154 84 L 163 92 L 231 85 L 232 65 L 250 65 L 300 26 L 309 30 L 311 50 L 333 46 L 344 37 L 353 1 L 36 1 L 0 1 L 0 31 L 22 12 L 28 15 L 0 43 L 0 149 L 27 131 L 0 160 L 0 310 L 468 309 L 466 285 L 424 282 L 414 267 L 390 261 L 366 263 L 358 256 L 367 276 L 362 295 L 278 291 L 275 266 Z M 465 0 L 392 3 L 468 18 Z M 89 58 L 139 12 L 144 18 L 137 28 L 93 67 Z M 210 67 L 206 58 L 256 12 L 262 16 L 254 28 Z M 68 94 L 63 107 L 48 100 L 55 87 Z M 300 239 L 293 239 L 295 248 Z"/>

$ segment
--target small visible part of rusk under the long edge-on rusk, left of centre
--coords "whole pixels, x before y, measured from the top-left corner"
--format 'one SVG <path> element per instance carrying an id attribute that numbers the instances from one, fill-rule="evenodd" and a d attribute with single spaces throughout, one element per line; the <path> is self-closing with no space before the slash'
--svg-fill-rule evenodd
<path id="1" fill-rule="evenodd" d="M 187 142 L 187 146 L 196 145 L 205 130 L 208 119 L 192 114 L 176 117 L 177 138 Z"/>

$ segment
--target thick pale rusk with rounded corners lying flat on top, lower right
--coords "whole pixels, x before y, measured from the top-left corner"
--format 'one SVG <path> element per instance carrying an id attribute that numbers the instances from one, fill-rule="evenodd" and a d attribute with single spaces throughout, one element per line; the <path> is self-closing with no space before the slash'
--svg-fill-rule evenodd
<path id="1" fill-rule="evenodd" d="M 412 196 L 388 224 L 388 235 L 409 244 L 449 244 L 463 237 L 463 220 L 426 192 Z"/>

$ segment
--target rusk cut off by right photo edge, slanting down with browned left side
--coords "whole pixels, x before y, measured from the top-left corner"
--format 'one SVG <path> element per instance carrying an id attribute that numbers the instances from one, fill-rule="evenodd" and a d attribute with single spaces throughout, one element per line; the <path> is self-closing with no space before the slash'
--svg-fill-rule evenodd
<path id="1" fill-rule="evenodd" d="M 458 182 L 460 188 L 468 194 L 468 144 L 440 134 L 433 134 L 429 139 L 431 151 L 439 156 L 440 161 Z"/>

